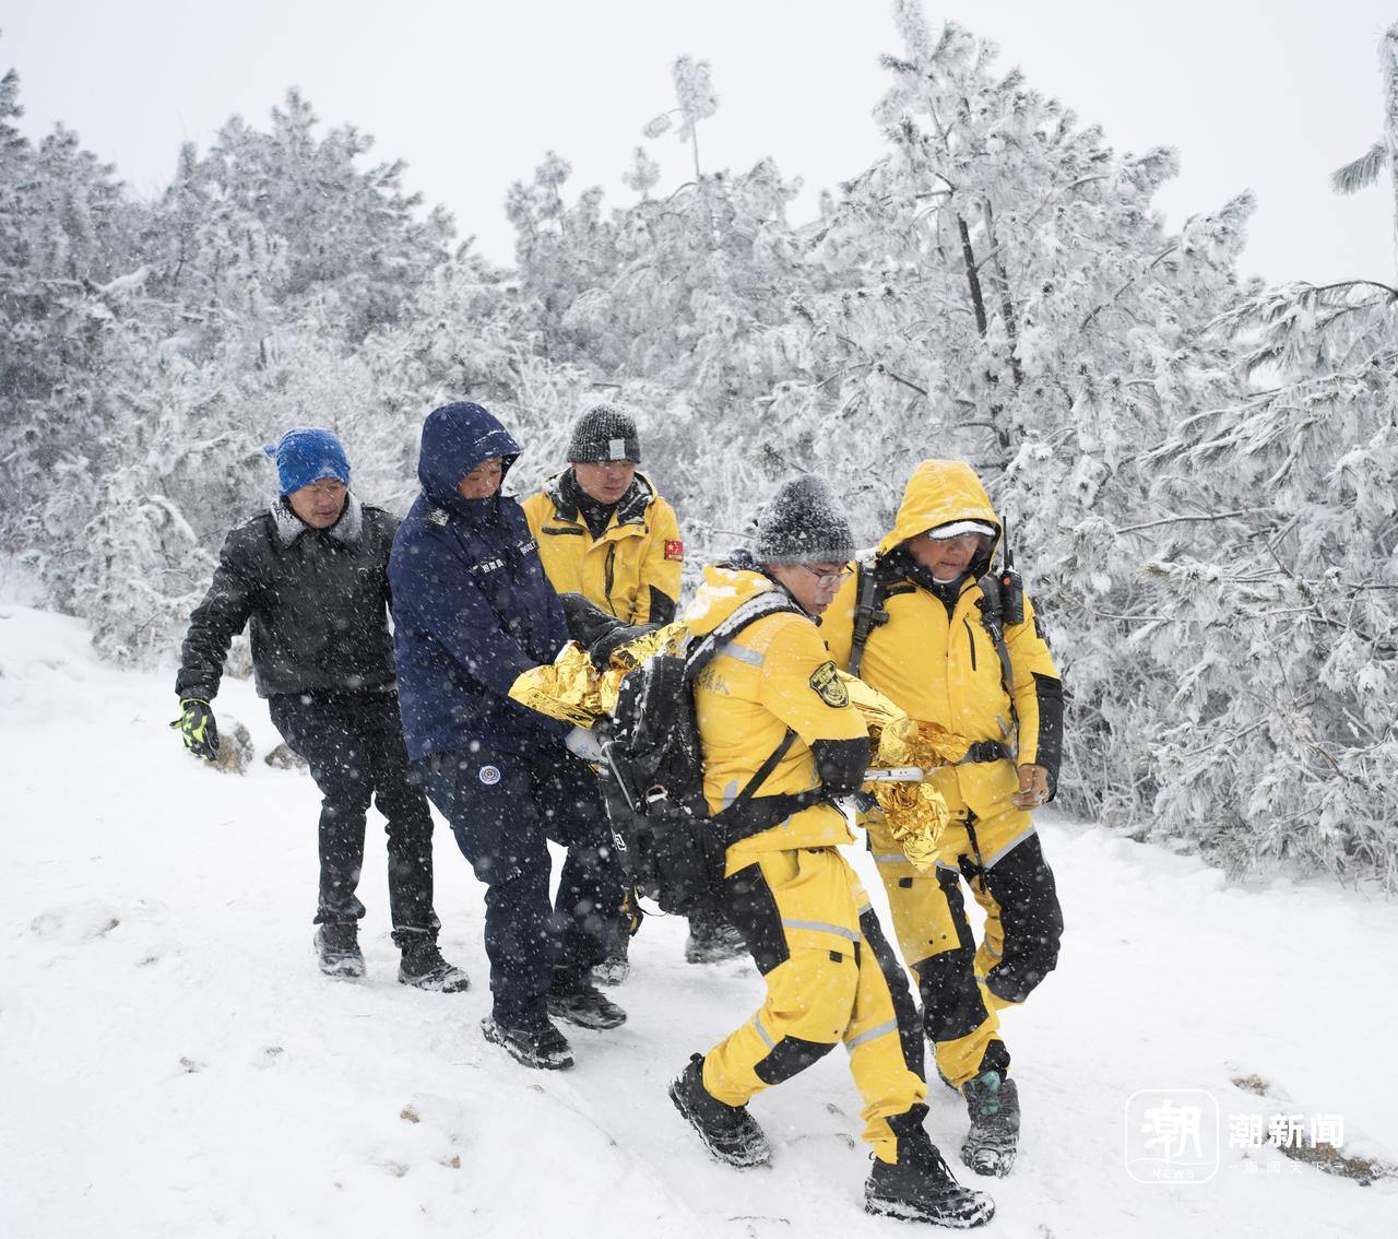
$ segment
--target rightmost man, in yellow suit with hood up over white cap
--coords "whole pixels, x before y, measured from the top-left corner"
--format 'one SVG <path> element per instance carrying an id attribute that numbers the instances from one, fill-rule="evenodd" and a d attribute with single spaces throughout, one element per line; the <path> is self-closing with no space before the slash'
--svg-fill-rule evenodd
<path id="1" fill-rule="evenodd" d="M 972 467 L 924 460 L 892 533 L 858 564 L 823 624 L 839 666 L 914 719 L 973 741 L 966 761 L 932 775 L 956 818 L 935 874 L 917 873 L 879 821 L 868 825 L 938 1068 L 970 1112 L 962 1156 L 990 1175 L 1008 1173 L 1019 1133 L 997 1010 L 1022 1003 L 1054 968 L 1062 934 L 1053 871 L 1029 812 L 1057 785 L 1062 685 L 1018 578 L 987 578 L 1001 537 Z M 979 948 L 962 878 L 986 909 Z"/>

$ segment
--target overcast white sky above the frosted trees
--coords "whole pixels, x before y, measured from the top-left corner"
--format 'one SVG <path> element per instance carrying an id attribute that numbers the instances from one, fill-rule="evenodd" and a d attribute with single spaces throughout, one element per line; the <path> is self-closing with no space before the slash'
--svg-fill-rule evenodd
<path id="1" fill-rule="evenodd" d="M 1173 145 L 1158 197 L 1179 225 L 1241 189 L 1260 199 L 1244 271 L 1324 281 L 1394 274 L 1392 197 L 1352 199 L 1328 173 L 1378 137 L 1377 45 L 1398 0 L 925 0 L 1001 46 L 1039 89 L 1124 150 Z M 720 110 L 700 129 L 707 169 L 772 155 L 805 192 L 878 157 L 870 110 L 898 52 L 882 0 L 233 0 L 224 4 L 7 0 L 0 69 L 21 76 L 34 138 L 59 120 L 155 194 L 180 143 L 207 145 L 240 113 L 266 124 L 298 85 L 322 120 L 352 123 L 460 235 L 509 262 L 503 197 L 548 150 L 573 192 L 621 173 L 640 127 L 672 106 L 670 66 L 713 64 Z M 665 185 L 689 169 L 672 136 L 646 143 Z"/>

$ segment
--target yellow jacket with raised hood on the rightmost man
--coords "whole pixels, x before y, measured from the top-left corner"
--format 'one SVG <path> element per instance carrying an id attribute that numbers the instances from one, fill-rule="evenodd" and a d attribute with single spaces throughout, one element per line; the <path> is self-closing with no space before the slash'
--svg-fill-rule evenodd
<path id="1" fill-rule="evenodd" d="M 886 568 L 888 557 L 909 538 L 958 520 L 994 526 L 998 544 L 1002 524 L 972 467 L 959 460 L 924 460 L 907 482 L 892 531 L 879 543 L 875 566 Z M 1046 764 L 1040 762 L 1040 702 L 1055 698 L 1057 719 L 1062 695 L 1028 597 L 1023 622 L 1005 628 L 1014 677 L 1007 691 L 1000 654 L 979 607 L 984 594 L 976 579 L 987 569 L 988 558 L 973 565 L 951 614 L 931 590 L 911 579 L 893 580 L 884 590 L 888 621 L 870 632 L 860 663 L 860 678 L 911 717 L 951 727 L 970 741 L 993 740 L 1015 750 L 1014 761 L 967 762 L 935 773 L 934 783 L 948 804 L 966 804 L 983 818 L 1011 807 L 1009 797 L 1019 789 L 1016 764 Z M 850 660 L 857 576 L 844 582 L 822 618 L 822 632 L 840 667 Z M 1057 751 L 1046 752 L 1046 759 L 1057 776 Z"/>

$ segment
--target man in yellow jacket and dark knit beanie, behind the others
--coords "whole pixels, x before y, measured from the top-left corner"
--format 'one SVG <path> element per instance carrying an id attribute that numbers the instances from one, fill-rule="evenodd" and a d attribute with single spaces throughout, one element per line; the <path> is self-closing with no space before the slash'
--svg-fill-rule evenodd
<path id="1" fill-rule="evenodd" d="M 621 404 L 594 404 L 573 425 L 568 468 L 524 501 L 549 583 L 582 594 L 625 624 L 670 624 L 679 599 L 685 544 L 675 510 L 644 475 L 640 434 Z M 630 934 L 640 923 L 625 908 L 593 969 L 601 984 L 630 971 Z M 745 954 L 738 931 L 713 913 L 689 917 L 685 958 L 714 964 Z"/>

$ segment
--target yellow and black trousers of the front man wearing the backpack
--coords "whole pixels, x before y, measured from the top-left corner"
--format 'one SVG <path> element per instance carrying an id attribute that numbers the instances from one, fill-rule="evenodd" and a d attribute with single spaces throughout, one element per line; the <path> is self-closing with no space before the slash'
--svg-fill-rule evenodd
<path id="1" fill-rule="evenodd" d="M 864 1138 L 875 1156 L 896 1161 L 888 1119 L 927 1096 L 921 1031 L 864 887 L 835 847 L 744 860 L 724 881 L 724 910 L 766 980 L 766 1001 L 707 1053 L 705 1088 L 741 1106 L 844 1042 L 864 1099 Z"/>

